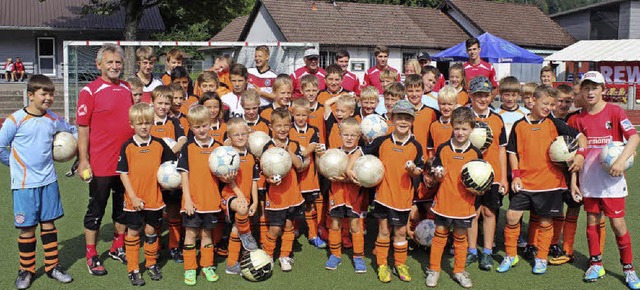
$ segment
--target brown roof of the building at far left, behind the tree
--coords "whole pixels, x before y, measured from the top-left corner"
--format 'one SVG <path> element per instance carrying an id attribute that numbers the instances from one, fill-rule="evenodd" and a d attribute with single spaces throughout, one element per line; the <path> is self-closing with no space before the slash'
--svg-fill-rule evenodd
<path id="1" fill-rule="evenodd" d="M 124 10 L 112 15 L 80 15 L 82 5 L 90 0 L 2 0 L 0 2 L 0 29 L 43 30 L 122 30 Z M 165 29 L 157 6 L 145 10 L 139 30 Z"/>

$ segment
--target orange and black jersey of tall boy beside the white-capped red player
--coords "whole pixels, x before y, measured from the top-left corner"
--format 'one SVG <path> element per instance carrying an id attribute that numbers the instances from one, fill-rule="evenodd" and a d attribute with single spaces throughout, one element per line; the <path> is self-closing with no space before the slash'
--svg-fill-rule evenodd
<path id="1" fill-rule="evenodd" d="M 556 118 L 529 120 L 526 116 L 513 124 L 507 152 L 518 158 L 522 190 L 551 191 L 566 189 L 564 171 L 551 162 L 549 146 L 561 135 L 576 138 L 580 133 Z"/>

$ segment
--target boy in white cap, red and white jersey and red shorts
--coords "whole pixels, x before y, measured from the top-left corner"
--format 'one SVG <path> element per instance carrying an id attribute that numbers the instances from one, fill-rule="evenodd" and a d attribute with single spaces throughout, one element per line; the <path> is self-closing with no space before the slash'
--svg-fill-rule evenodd
<path id="1" fill-rule="evenodd" d="M 574 195 L 574 199 L 582 198 L 587 212 L 590 267 L 584 280 L 592 282 L 605 275 L 598 233 L 600 217 L 604 213 L 616 236 L 625 282 L 631 289 L 640 289 L 640 279 L 632 265 L 631 237 L 624 220 L 625 197 L 628 194 L 624 163 L 636 151 L 640 138 L 624 110 L 602 99 L 604 89 L 604 77 L 599 72 L 589 71 L 582 76 L 580 92 L 586 104 L 576 119 L 576 125 L 589 142 L 586 152 L 578 152 L 586 156 L 584 168 L 580 171 L 580 192 Z M 598 162 L 602 146 L 611 141 L 623 141 L 623 138 L 627 140 L 624 150 L 608 172 L 603 170 Z"/>

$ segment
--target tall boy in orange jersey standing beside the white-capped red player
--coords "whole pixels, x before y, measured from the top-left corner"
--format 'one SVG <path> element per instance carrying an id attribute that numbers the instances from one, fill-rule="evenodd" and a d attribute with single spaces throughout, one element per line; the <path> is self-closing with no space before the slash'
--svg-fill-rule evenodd
<path id="1" fill-rule="evenodd" d="M 504 84 L 501 83 L 500 90 Z M 507 223 L 504 229 L 506 256 L 496 271 L 503 273 L 515 266 L 520 219 L 524 210 L 535 211 L 540 225 L 536 245 L 533 273 L 547 272 L 547 256 L 553 237 L 553 217 L 562 215 L 563 194 L 567 182 L 563 169 L 551 162 L 548 157 L 549 146 L 558 136 L 570 136 L 578 139 L 584 151 L 586 138 L 565 122 L 549 118 L 556 102 L 557 91 L 551 87 L 540 86 L 533 93 L 534 105 L 531 113 L 513 124 L 509 137 L 509 164 L 511 165 L 511 190 L 514 194 L 507 211 Z M 541 158 L 543 157 L 543 158 Z M 577 155 L 570 171 L 582 167 L 583 157 Z"/>

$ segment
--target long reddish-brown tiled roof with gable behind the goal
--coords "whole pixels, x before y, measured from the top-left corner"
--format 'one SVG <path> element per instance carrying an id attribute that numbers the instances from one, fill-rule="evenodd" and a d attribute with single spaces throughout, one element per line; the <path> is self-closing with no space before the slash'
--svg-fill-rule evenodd
<path id="1" fill-rule="evenodd" d="M 330 1 L 260 0 L 239 40 L 243 40 L 248 34 L 261 5 L 264 5 L 289 42 L 444 49 L 468 37 L 447 15 L 431 8 L 351 2 L 337 2 L 334 5 Z M 227 31 L 224 32 L 226 35 Z"/>

